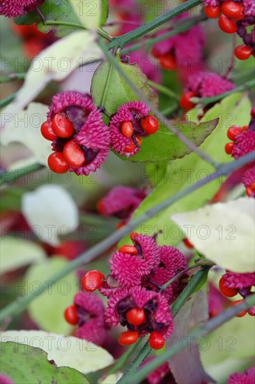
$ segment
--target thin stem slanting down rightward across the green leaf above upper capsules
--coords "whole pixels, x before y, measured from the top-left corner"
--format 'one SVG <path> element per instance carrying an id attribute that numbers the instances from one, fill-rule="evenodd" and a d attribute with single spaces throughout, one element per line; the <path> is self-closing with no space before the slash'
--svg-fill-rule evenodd
<path id="1" fill-rule="evenodd" d="M 201 149 L 196 147 L 196 145 L 194 145 L 193 142 L 190 142 L 190 140 L 186 138 L 186 136 L 183 135 L 183 133 L 181 133 L 167 119 L 165 119 L 165 117 L 160 112 L 158 112 L 157 108 L 155 108 L 154 105 L 150 103 L 150 101 L 148 101 L 148 99 L 144 96 L 144 94 L 141 93 L 140 89 L 137 88 L 137 86 L 132 82 L 132 80 L 130 80 L 130 77 L 127 76 L 126 73 L 123 71 L 123 68 L 121 68 L 118 61 L 114 59 L 114 57 L 112 57 L 111 54 L 108 52 L 107 47 L 109 45 L 106 46 L 105 43 L 103 43 L 101 40 L 98 40 L 98 45 L 101 47 L 102 51 L 105 53 L 105 57 L 107 57 L 109 63 L 111 63 L 116 68 L 116 71 L 118 71 L 121 77 L 123 77 L 123 79 L 127 82 L 127 84 L 134 91 L 134 93 L 137 94 L 137 96 L 139 96 L 140 100 L 144 101 L 144 103 L 148 105 L 148 107 L 150 108 L 150 111 L 153 112 L 153 115 L 155 115 L 155 117 L 157 117 L 158 120 L 164 121 L 164 125 L 167 126 L 167 128 L 169 128 L 169 130 L 174 135 L 176 135 L 176 137 L 181 142 L 183 142 L 183 144 L 185 144 L 188 148 L 190 148 L 192 152 L 195 152 L 198 156 L 203 158 L 204 161 L 206 161 L 207 163 L 210 163 L 210 165 L 212 165 L 212 167 L 216 169 L 219 166 L 219 163 L 217 163 L 217 161 L 215 161 L 214 159 L 210 158 L 210 156 L 208 156 L 203 151 L 201 151 Z"/>

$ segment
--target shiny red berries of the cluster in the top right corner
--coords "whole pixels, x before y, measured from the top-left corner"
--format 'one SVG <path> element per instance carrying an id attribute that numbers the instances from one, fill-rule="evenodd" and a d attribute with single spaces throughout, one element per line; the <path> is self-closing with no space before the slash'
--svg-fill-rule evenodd
<path id="1" fill-rule="evenodd" d="M 240 20 L 245 19 L 244 8 L 242 3 L 238 1 L 226 0 L 218 6 L 205 6 L 204 11 L 206 15 L 211 19 L 219 17 L 219 28 L 222 29 L 222 31 L 224 31 L 226 34 L 234 34 L 235 32 L 238 33 L 238 29 L 244 29 L 244 26 L 238 24 Z M 244 34 L 242 31 L 241 35 L 241 37 L 244 38 L 246 33 Z M 247 39 L 244 38 L 244 40 Z M 235 57 L 240 60 L 249 59 L 251 54 L 255 54 L 255 52 L 252 50 L 252 47 L 249 47 L 247 44 L 242 44 L 238 45 L 238 47 L 235 47 L 234 53 Z"/>

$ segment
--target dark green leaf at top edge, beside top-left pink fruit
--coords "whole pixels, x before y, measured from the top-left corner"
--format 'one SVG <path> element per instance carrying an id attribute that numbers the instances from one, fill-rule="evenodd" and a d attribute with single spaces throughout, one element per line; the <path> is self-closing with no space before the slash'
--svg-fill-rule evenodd
<path id="1" fill-rule="evenodd" d="M 79 4 L 82 2 L 79 1 Z M 45 16 L 46 20 L 51 20 L 54 22 L 68 22 L 72 24 L 78 24 L 82 27 L 82 22 L 79 20 L 79 16 L 75 13 L 75 10 L 70 5 L 70 1 L 61 0 L 45 0 L 45 2 L 40 6 L 42 14 Z M 62 37 L 71 32 L 77 31 L 77 27 L 72 27 L 70 25 L 45 25 L 42 22 L 42 19 L 38 12 L 34 10 L 29 12 L 26 15 L 20 17 L 15 17 L 15 23 L 22 24 L 34 24 L 38 23 L 37 27 L 39 31 L 47 34 L 49 31 L 54 31 L 56 36 Z"/>

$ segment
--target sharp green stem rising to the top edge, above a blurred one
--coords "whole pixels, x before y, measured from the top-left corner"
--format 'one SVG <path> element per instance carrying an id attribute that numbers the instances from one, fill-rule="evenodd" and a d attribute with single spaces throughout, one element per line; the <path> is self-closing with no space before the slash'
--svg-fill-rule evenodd
<path id="1" fill-rule="evenodd" d="M 150 22 L 146 22 L 146 24 L 141 25 L 141 27 L 133 29 L 133 31 L 130 31 L 125 35 L 113 38 L 111 43 L 109 43 L 109 49 L 114 47 L 124 47 L 125 45 L 131 43 L 133 40 L 145 36 L 150 31 L 153 31 L 157 27 L 160 27 L 160 25 L 164 24 L 164 22 L 173 19 L 173 17 L 180 15 L 186 10 L 193 8 L 194 6 L 198 6 L 200 3 L 201 0 L 185 1 L 185 3 L 180 4 L 180 6 L 177 6 L 173 10 L 169 10 L 169 12 L 163 13 L 162 15 L 155 17 L 155 19 L 150 20 Z"/>

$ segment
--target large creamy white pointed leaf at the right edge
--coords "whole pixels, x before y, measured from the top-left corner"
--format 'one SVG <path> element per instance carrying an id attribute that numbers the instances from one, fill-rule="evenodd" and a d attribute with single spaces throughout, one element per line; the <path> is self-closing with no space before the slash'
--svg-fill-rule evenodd
<path id="1" fill-rule="evenodd" d="M 186 235 L 187 226 L 190 226 L 192 244 L 219 267 L 239 273 L 254 270 L 253 199 L 217 202 L 196 211 L 174 214 L 171 219 Z M 199 230 L 202 226 L 206 227 L 203 235 Z"/>

